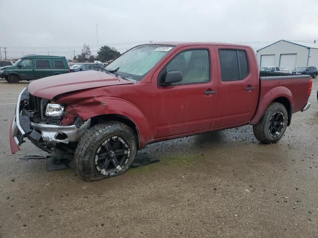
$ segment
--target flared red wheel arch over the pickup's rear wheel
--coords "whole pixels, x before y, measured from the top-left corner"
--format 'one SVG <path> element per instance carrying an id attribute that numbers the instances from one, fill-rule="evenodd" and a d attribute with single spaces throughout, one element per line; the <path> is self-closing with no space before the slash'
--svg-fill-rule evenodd
<path id="1" fill-rule="evenodd" d="M 268 90 L 264 95 L 259 98 L 259 102 L 257 105 L 256 112 L 253 118 L 249 121 L 249 124 L 255 125 L 261 119 L 263 114 L 265 113 L 267 107 L 270 103 L 274 102 L 278 98 L 286 98 L 290 103 L 290 113 L 289 113 L 289 121 L 291 114 L 293 113 L 294 108 L 294 96 L 293 93 L 284 86 L 279 86 Z"/>

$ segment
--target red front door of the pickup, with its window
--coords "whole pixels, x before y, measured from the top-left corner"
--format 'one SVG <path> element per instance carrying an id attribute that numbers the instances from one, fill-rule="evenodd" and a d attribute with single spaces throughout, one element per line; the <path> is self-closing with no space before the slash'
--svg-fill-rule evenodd
<path id="1" fill-rule="evenodd" d="M 180 49 L 154 74 L 151 104 L 156 139 L 214 127 L 218 88 L 211 75 L 214 54 L 213 48 L 212 54 L 209 48 Z M 169 71 L 180 71 L 182 80 L 162 86 Z"/>

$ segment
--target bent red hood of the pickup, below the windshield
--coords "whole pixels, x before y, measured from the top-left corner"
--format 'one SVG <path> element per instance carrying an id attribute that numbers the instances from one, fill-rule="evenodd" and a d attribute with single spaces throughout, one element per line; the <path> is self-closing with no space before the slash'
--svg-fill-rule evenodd
<path id="1" fill-rule="evenodd" d="M 132 82 L 100 71 L 88 70 L 34 80 L 29 84 L 28 91 L 36 97 L 53 99 L 64 93 L 120 84 Z"/>

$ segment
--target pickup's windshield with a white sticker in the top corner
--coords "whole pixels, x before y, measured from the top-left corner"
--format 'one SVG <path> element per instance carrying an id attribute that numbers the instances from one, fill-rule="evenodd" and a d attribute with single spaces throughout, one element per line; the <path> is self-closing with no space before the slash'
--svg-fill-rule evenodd
<path id="1" fill-rule="evenodd" d="M 173 48 L 163 45 L 137 46 L 112 61 L 105 69 L 111 71 L 119 68 L 119 76 L 140 81 Z"/>

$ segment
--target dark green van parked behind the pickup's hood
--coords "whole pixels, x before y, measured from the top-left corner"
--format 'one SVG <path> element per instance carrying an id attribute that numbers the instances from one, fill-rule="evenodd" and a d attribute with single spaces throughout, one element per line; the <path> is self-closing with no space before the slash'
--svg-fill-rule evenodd
<path id="1" fill-rule="evenodd" d="M 69 65 L 65 57 L 28 55 L 10 66 L 0 67 L 0 78 L 5 78 L 9 83 L 18 83 L 20 80 L 34 80 L 67 72 Z"/>

